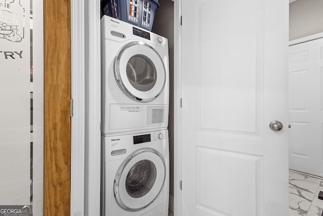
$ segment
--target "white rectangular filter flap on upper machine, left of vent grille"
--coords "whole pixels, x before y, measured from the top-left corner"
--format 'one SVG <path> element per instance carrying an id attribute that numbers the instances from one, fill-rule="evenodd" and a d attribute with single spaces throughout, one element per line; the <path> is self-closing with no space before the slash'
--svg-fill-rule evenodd
<path id="1" fill-rule="evenodd" d="M 132 104 L 110 105 L 110 129 L 142 127 L 143 107 Z"/>

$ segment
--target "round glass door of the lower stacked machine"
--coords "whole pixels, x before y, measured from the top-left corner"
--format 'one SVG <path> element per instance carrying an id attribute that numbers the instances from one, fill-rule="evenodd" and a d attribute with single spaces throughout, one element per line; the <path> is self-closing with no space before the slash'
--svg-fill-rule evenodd
<path id="1" fill-rule="evenodd" d="M 151 148 L 139 149 L 118 169 L 114 185 L 116 201 L 125 210 L 141 210 L 158 197 L 165 178 L 163 156 Z"/>

